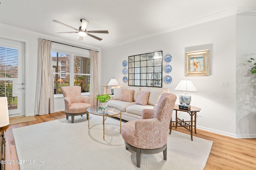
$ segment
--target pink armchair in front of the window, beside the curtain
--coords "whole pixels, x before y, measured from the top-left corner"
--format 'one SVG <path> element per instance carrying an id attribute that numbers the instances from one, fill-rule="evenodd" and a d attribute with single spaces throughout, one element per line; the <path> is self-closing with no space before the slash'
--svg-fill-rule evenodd
<path id="1" fill-rule="evenodd" d="M 71 116 L 71 123 L 74 123 L 74 116 L 87 114 L 89 119 L 87 109 L 91 105 L 89 97 L 81 96 L 81 86 L 63 86 L 60 89 L 64 96 L 66 118 Z"/>

